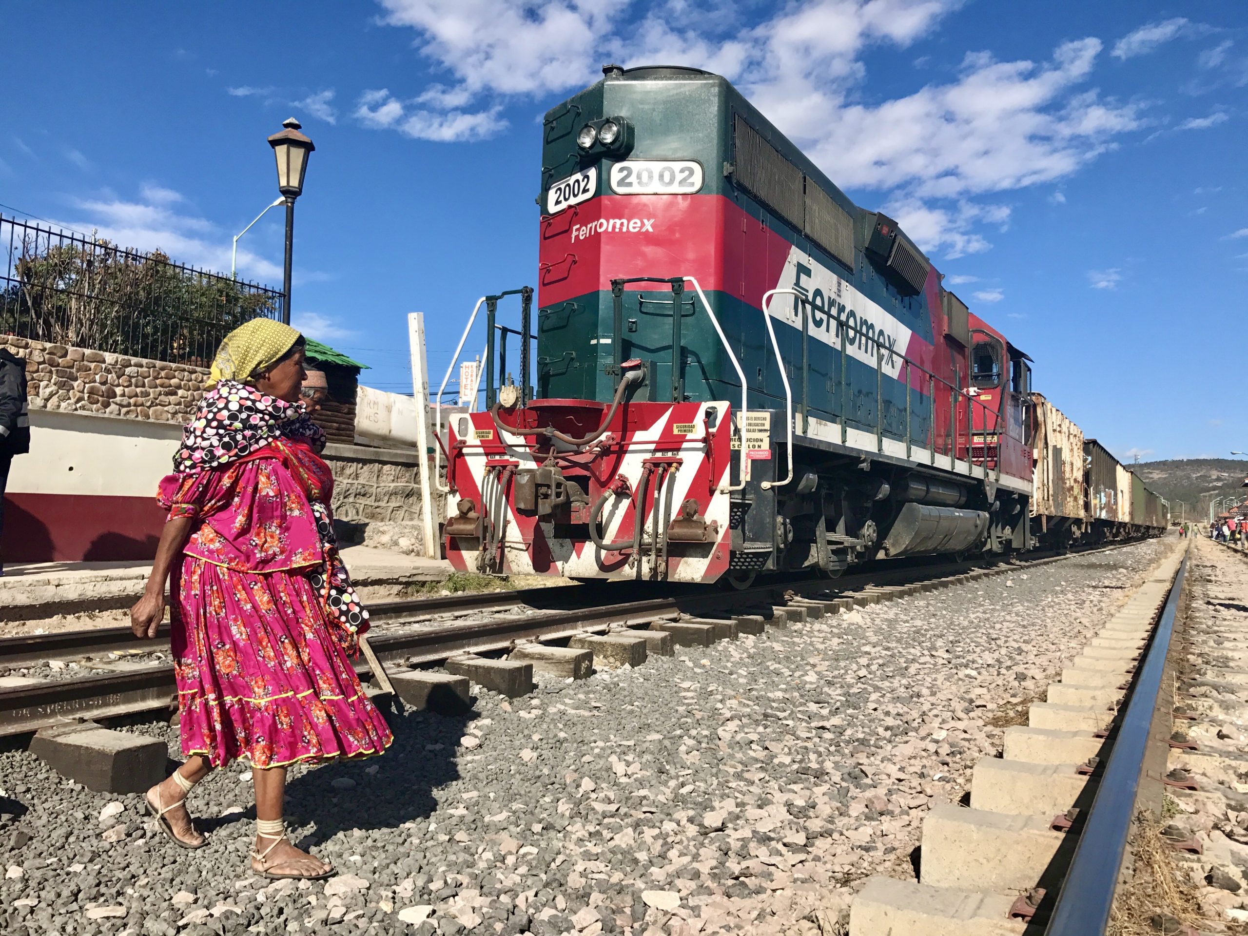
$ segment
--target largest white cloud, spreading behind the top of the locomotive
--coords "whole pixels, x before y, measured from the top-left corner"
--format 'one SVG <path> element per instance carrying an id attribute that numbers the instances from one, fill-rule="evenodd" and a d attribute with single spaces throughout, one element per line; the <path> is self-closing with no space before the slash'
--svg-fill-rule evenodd
<path id="1" fill-rule="evenodd" d="M 364 126 L 479 140 L 505 126 L 508 101 L 579 90 L 608 57 L 705 67 L 733 80 L 837 185 L 882 192 L 925 250 L 950 257 L 987 250 L 982 226 L 1008 217 L 1008 207 L 971 198 L 1067 177 L 1146 122 L 1144 104 L 1086 86 L 1102 51 L 1094 37 L 1058 45 L 1048 61 L 967 54 L 952 79 L 861 97 L 869 49 L 910 46 L 962 0 L 778 4 L 751 26 L 718 0 L 379 2 L 383 22 L 413 30 L 418 54 L 446 79 L 407 95 L 366 92 L 354 110 Z"/>

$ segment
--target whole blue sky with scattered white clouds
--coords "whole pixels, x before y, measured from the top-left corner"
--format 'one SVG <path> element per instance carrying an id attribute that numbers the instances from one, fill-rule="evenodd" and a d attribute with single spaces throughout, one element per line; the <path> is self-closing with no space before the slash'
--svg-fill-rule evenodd
<path id="1" fill-rule="evenodd" d="M 383 0 L 6 9 L 0 203 L 228 271 L 317 151 L 295 323 L 409 391 L 537 280 L 540 115 L 618 61 L 728 75 L 1036 359 L 1119 457 L 1248 449 L 1248 7 L 990 0 Z M 7 213 L 7 208 L 0 208 Z M 281 212 L 240 272 L 281 285 Z M 480 344 L 473 339 L 470 346 Z"/>

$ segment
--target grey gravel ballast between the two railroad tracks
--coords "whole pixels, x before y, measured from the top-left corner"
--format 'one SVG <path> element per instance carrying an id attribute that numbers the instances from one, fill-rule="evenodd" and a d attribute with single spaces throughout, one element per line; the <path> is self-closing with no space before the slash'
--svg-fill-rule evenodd
<path id="1" fill-rule="evenodd" d="M 14 934 L 831 932 L 1159 558 L 1147 542 L 822 618 L 638 669 L 393 715 L 386 756 L 291 770 L 327 882 L 250 871 L 250 770 L 216 771 L 183 851 L 142 797 L 0 754 Z M 166 736 L 147 724 L 127 730 Z M 119 809 L 120 806 L 120 809 Z M 24 840 L 25 835 L 31 837 Z"/>

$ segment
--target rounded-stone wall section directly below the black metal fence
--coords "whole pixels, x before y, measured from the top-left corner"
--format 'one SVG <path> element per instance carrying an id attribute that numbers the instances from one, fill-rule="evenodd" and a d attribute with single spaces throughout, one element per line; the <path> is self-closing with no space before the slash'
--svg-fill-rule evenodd
<path id="1" fill-rule="evenodd" d="M 34 409 L 102 413 L 185 423 L 203 396 L 208 371 L 104 351 L 0 334 L 0 346 L 26 358 Z"/>

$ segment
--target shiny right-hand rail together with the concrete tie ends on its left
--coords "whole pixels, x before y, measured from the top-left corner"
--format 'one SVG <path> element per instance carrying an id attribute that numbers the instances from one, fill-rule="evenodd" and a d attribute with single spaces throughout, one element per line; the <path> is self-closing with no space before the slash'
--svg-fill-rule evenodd
<path id="1" fill-rule="evenodd" d="M 1154 567 L 1028 724 L 1006 730 L 1002 756 L 975 766 L 970 809 L 927 814 L 919 880 L 870 879 L 851 936 L 1106 932 L 1137 810 L 1161 812 L 1163 782 L 1196 789 L 1167 774 L 1169 749 L 1194 748 L 1172 735 L 1167 663 L 1189 553 Z"/>

